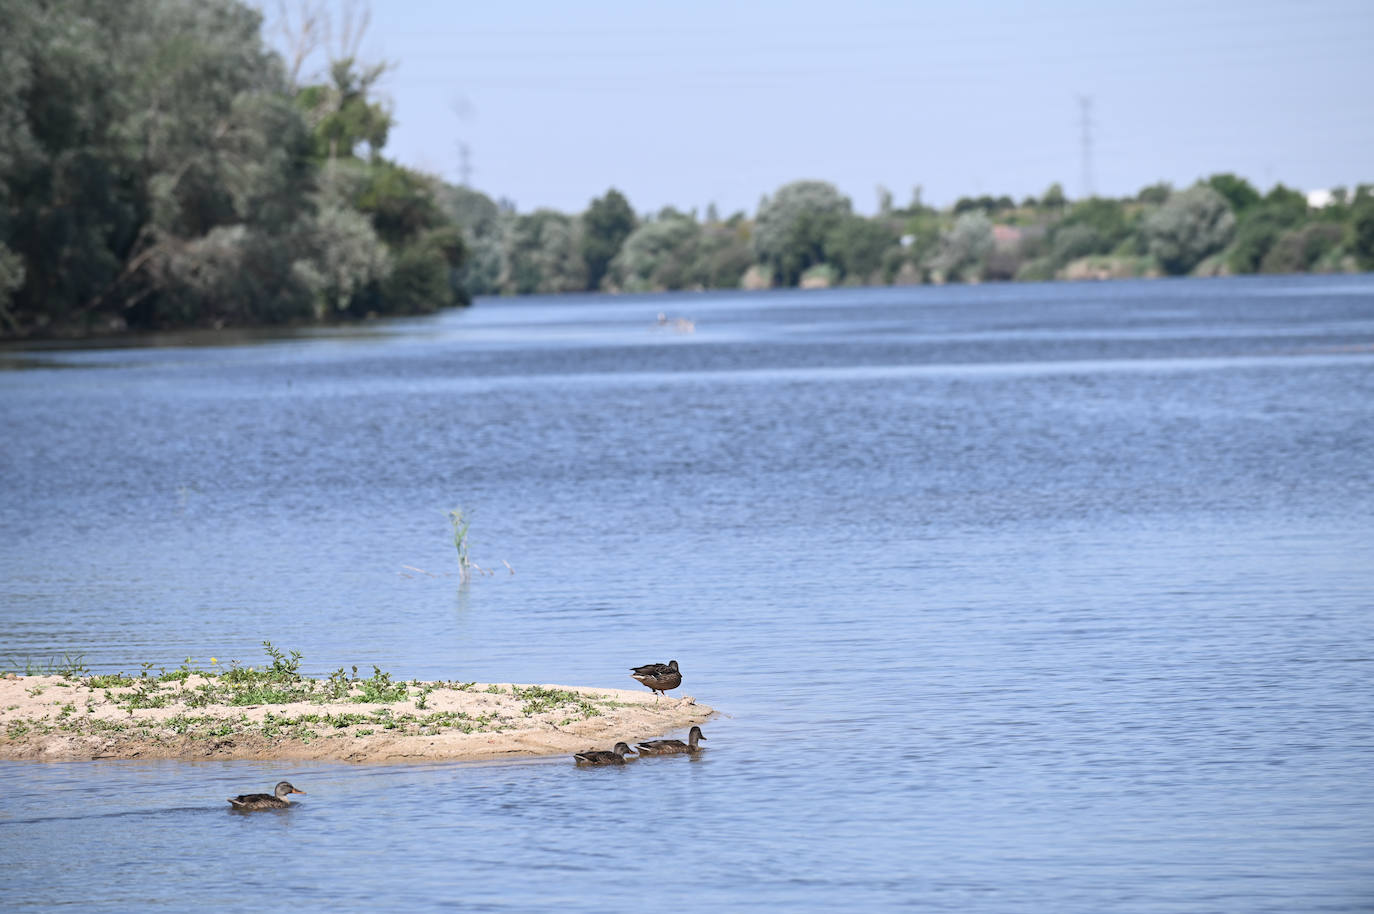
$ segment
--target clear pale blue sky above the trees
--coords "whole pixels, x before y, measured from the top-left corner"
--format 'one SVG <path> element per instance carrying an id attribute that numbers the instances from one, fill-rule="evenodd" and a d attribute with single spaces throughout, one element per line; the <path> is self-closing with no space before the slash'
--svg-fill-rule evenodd
<path id="1" fill-rule="evenodd" d="M 1370 0 L 392 0 L 360 56 L 393 65 L 387 157 L 460 183 L 466 144 L 467 183 L 519 212 L 616 187 L 753 214 L 800 179 L 864 213 L 879 186 L 947 206 L 1374 183 Z"/>

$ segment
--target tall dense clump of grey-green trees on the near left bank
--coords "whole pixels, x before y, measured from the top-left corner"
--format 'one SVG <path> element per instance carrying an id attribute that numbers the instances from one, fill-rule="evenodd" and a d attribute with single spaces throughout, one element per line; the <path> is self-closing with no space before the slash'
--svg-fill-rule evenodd
<path id="1" fill-rule="evenodd" d="M 378 67 L 295 87 L 238 0 L 0 0 L 0 333 L 311 322 L 466 301 Z"/>

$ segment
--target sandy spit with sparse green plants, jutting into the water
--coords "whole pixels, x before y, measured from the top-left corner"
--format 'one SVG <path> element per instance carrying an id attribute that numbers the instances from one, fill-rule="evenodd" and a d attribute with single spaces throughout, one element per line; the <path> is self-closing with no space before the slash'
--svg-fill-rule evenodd
<path id="1" fill-rule="evenodd" d="M 297 679 L 247 704 L 224 678 L 0 679 L 0 759 L 433 761 L 609 749 L 702 723 L 691 697 L 578 686 Z M 333 687 L 331 687 L 333 686 Z M 382 700 L 374 700 L 381 691 Z M 256 694 L 256 693 L 254 693 Z M 282 694 L 275 698 L 282 698 Z M 228 701 L 227 701 L 228 700 Z"/>

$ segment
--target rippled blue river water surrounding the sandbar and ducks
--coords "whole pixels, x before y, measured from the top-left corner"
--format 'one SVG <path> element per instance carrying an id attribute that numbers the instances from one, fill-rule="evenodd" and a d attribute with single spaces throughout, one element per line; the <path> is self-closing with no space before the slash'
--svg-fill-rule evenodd
<path id="1" fill-rule="evenodd" d="M 721 716 L 614 770 L 4 763 L 7 910 L 1374 909 L 1374 276 L 133 342 L 0 350 L 0 667 L 676 658 Z"/>

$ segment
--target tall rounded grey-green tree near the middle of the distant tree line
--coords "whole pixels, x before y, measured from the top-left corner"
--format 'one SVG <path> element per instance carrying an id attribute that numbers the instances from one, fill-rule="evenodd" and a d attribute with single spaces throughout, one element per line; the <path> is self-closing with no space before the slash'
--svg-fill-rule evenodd
<path id="1" fill-rule="evenodd" d="M 754 253 L 778 282 L 796 286 L 811 265 L 823 263 L 826 238 L 851 213 L 849 198 L 826 181 L 794 181 L 758 206 Z"/>

